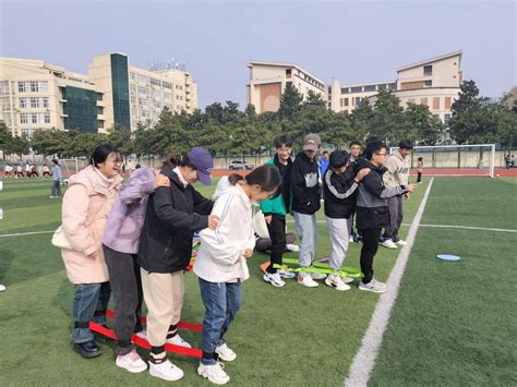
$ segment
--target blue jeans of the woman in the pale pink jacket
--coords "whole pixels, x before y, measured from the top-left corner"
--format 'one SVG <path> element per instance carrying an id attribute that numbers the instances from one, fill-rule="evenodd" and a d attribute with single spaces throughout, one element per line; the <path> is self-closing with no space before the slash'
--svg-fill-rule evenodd
<path id="1" fill-rule="evenodd" d="M 73 318 L 75 327 L 72 332 L 74 343 L 94 340 L 94 334 L 87 327 L 91 321 L 106 325 L 106 310 L 108 309 L 111 288 L 109 282 L 75 285 L 73 298 Z"/>

